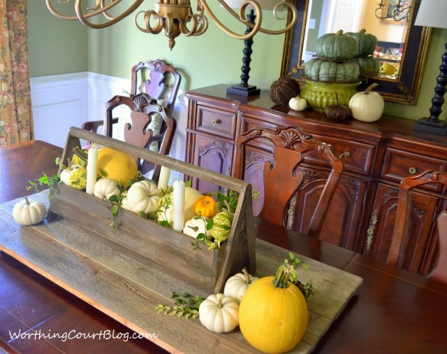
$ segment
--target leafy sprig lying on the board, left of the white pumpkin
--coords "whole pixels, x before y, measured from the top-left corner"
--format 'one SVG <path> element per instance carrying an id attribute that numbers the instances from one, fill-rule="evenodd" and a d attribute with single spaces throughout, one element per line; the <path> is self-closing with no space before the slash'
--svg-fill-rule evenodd
<path id="1" fill-rule="evenodd" d="M 177 315 L 177 317 L 196 318 L 198 308 L 204 300 L 200 295 L 193 296 L 187 292 L 179 292 L 178 294 L 173 292 L 171 298 L 174 299 L 174 306 L 159 304 L 155 306 L 155 311 L 168 316 Z"/>

